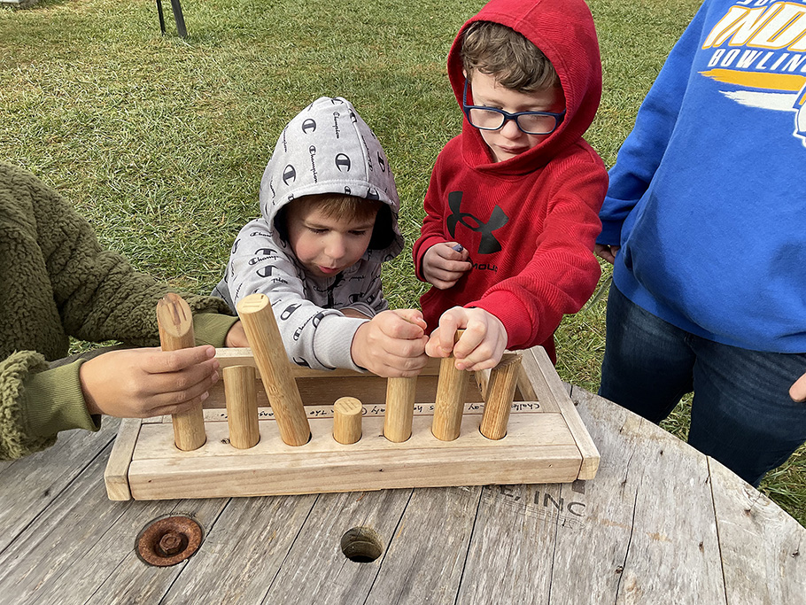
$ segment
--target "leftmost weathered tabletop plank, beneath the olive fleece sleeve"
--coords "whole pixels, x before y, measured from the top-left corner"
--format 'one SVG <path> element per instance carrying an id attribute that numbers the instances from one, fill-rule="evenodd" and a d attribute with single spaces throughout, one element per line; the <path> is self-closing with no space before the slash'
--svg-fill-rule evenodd
<path id="1" fill-rule="evenodd" d="M 0 470 L 0 552 L 109 445 L 117 429 L 117 418 L 105 418 L 97 432 L 66 430 L 55 446 Z"/>

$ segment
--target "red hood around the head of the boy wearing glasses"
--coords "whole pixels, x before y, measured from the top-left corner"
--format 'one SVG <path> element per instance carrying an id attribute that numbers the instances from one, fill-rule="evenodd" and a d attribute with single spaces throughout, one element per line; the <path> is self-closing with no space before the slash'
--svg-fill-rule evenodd
<path id="1" fill-rule="evenodd" d="M 470 126 L 467 118 L 462 123 L 462 153 L 472 166 L 498 174 L 531 172 L 576 143 L 599 108 L 601 57 L 593 16 L 583 0 L 492 0 L 485 4 L 461 27 L 448 54 L 448 77 L 460 108 L 465 83 L 461 39 L 474 21 L 500 23 L 524 35 L 543 51 L 560 77 L 565 94 L 565 120 L 545 141 L 515 158 L 492 163 L 489 148 L 477 128 Z"/>

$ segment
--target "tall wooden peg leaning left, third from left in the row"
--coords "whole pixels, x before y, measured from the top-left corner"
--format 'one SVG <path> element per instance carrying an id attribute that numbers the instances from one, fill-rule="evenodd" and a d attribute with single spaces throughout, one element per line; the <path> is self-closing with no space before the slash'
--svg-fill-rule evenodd
<path id="1" fill-rule="evenodd" d="M 311 426 L 271 303 L 265 294 L 250 294 L 238 302 L 237 310 L 275 413 L 280 438 L 289 446 L 304 446 L 311 438 Z"/>

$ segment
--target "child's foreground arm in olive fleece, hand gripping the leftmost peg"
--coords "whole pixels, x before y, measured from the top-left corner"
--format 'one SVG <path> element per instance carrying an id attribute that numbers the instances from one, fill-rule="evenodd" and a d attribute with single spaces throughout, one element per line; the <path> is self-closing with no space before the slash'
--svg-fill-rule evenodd
<path id="1" fill-rule="evenodd" d="M 218 380 L 212 346 L 130 349 L 49 368 L 40 353 L 0 361 L 0 460 L 52 446 L 61 430 L 98 430 L 101 414 L 173 414 L 206 399 Z"/>

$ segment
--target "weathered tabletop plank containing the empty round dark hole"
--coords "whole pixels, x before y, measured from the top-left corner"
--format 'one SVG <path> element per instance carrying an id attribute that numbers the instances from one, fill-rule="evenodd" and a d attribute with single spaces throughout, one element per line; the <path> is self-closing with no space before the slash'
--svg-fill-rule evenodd
<path id="1" fill-rule="evenodd" d="M 363 603 L 384 565 L 412 490 L 322 494 L 299 532 L 264 603 Z M 381 555 L 354 562 L 342 552 L 347 531 L 367 528 Z"/>

